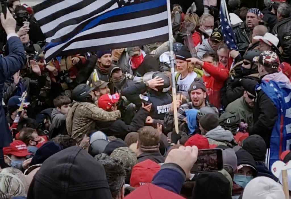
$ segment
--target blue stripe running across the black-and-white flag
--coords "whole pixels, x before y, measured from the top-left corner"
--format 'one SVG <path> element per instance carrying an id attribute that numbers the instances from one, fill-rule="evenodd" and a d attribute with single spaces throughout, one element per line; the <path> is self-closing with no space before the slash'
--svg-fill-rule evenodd
<path id="1" fill-rule="evenodd" d="M 145 3 L 139 3 L 139 4 L 134 4 L 134 5 L 131 5 L 131 6 L 124 6 L 124 7 L 121 7 L 121 8 L 116 8 L 115 10 L 109 11 L 108 13 L 104 13 L 103 15 L 101 15 L 99 17 L 96 17 L 89 24 L 87 24 L 86 27 L 84 27 L 84 29 L 79 31 L 77 34 L 73 35 L 71 38 L 73 38 L 74 36 L 80 34 L 81 32 L 84 32 L 84 31 L 96 26 L 101 20 L 107 19 L 109 17 L 113 17 L 113 16 L 117 16 L 117 15 L 123 15 L 123 14 L 127 14 L 127 13 L 138 12 L 138 11 L 142 11 L 142 10 L 148 10 L 148 9 L 152 9 L 152 8 L 157 8 L 159 6 L 164 6 L 166 4 L 167 4 L 166 0 L 153 0 L 153 1 L 148 1 L 148 2 L 145 2 Z M 62 43 L 66 43 L 70 39 L 62 41 L 62 42 L 56 42 L 56 43 L 54 43 L 52 41 L 45 47 L 45 51 L 49 50 L 52 47 L 60 45 Z"/>

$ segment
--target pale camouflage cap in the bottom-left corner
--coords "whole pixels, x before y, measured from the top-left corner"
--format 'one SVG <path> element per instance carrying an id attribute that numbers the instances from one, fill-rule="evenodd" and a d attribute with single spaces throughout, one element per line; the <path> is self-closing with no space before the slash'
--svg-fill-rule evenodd
<path id="1" fill-rule="evenodd" d="M 16 168 L 4 168 L 0 171 L 1 199 L 10 199 L 14 196 L 25 196 L 29 184 L 24 174 Z"/>

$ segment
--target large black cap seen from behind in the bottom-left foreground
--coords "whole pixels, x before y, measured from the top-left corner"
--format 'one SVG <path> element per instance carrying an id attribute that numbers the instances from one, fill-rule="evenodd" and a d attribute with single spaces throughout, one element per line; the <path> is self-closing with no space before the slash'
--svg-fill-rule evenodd
<path id="1" fill-rule="evenodd" d="M 27 199 L 112 199 L 105 170 L 81 147 L 49 157 L 34 176 Z"/>

